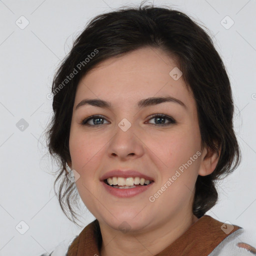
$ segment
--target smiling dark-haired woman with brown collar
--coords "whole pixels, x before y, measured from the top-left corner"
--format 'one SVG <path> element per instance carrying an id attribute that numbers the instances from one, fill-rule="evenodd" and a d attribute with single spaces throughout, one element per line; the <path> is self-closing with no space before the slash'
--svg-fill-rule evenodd
<path id="1" fill-rule="evenodd" d="M 50 255 L 256 253 L 241 227 L 205 215 L 240 150 L 225 67 L 187 15 L 149 5 L 98 15 L 52 94 L 61 208 L 76 218 L 77 188 L 96 219 Z"/>

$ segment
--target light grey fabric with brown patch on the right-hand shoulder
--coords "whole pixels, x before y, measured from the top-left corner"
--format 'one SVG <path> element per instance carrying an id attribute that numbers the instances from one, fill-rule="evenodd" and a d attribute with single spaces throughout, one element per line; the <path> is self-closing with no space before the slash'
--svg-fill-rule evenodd
<path id="1" fill-rule="evenodd" d="M 240 228 L 228 235 L 208 256 L 256 255 L 256 241 L 252 230 Z"/>

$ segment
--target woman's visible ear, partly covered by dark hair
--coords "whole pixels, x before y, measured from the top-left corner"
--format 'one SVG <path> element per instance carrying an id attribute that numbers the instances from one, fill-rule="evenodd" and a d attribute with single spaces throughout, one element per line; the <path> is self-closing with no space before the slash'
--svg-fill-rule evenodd
<path id="1" fill-rule="evenodd" d="M 221 148 L 218 150 L 220 155 Z M 218 163 L 219 156 L 217 152 L 212 151 L 209 148 L 204 148 L 201 156 L 201 164 L 199 167 L 198 175 L 206 176 L 214 171 Z"/>

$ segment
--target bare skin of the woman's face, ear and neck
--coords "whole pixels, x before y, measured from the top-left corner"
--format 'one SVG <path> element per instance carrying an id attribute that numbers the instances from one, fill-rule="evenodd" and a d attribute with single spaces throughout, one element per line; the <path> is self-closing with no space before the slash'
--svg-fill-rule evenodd
<path id="1" fill-rule="evenodd" d="M 192 213 L 195 181 L 216 167 L 217 154 L 201 149 L 196 104 L 182 76 L 174 80 L 169 72 L 176 66 L 173 58 L 157 48 L 143 47 L 121 57 L 109 58 L 91 69 L 76 90 L 72 113 L 69 150 L 71 169 L 80 177 L 76 187 L 88 210 L 98 219 L 101 255 L 155 255 L 183 234 L 196 220 Z M 164 102 L 142 109 L 142 98 L 171 95 L 185 103 Z M 111 109 L 92 105 L 75 106 L 84 98 L 110 101 Z M 153 126 L 152 114 L 165 114 L 176 120 L 165 126 Z M 100 114 L 104 119 L 80 123 Z M 127 131 L 118 123 L 126 118 Z M 196 151 L 201 155 L 157 198 L 149 201 L 179 166 Z M 135 169 L 154 179 L 144 192 L 118 198 L 106 192 L 99 178 L 112 169 Z M 130 230 L 118 226 L 126 221 Z M 124 254 L 125 253 L 125 254 Z M 92 253 L 93 254 L 93 253 Z"/>

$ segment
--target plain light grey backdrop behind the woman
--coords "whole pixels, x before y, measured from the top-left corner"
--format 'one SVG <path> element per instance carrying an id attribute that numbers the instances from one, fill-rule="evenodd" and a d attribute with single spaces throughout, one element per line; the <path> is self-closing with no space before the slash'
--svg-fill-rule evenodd
<path id="1" fill-rule="evenodd" d="M 81 231 L 62 213 L 50 174 L 56 166 L 43 157 L 45 141 L 39 138 L 52 103 L 46 95 L 59 61 L 85 23 L 111 8 L 137 3 L 140 1 L 0 0 L 1 256 L 51 252 Z M 256 1 L 155 0 L 154 4 L 184 11 L 208 27 L 227 68 L 242 161 L 220 182 L 219 202 L 206 214 L 250 230 L 256 245 Z M 25 22 L 29 24 L 23 28 Z M 28 123 L 23 131 L 16 126 L 21 118 Z M 93 219 L 84 208 L 83 225 Z M 20 234 L 26 225 L 29 229 Z"/>

